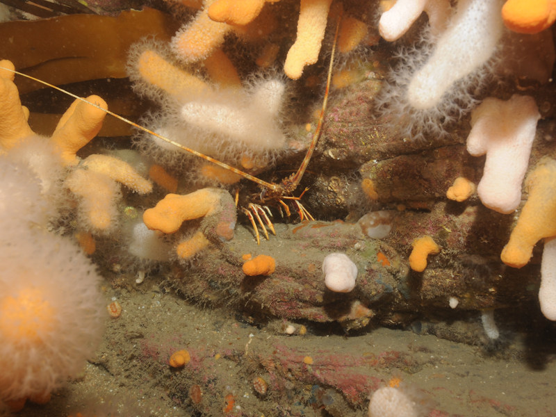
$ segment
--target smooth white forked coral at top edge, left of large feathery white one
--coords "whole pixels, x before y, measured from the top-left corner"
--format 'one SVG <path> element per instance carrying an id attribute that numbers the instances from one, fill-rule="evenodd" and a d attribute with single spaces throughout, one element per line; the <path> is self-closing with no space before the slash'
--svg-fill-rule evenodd
<path id="1" fill-rule="evenodd" d="M 382 13 L 379 33 L 389 42 L 398 40 L 406 33 L 421 13 L 427 13 L 433 35 L 439 35 L 450 17 L 448 0 L 398 0 Z"/>

